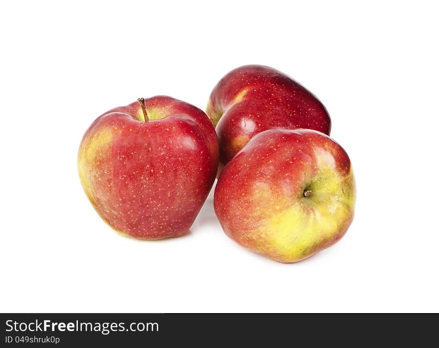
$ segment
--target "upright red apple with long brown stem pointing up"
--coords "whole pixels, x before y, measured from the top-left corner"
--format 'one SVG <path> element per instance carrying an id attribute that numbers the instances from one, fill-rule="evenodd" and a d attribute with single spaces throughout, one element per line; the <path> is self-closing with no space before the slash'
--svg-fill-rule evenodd
<path id="1" fill-rule="evenodd" d="M 183 101 L 145 99 L 112 109 L 85 132 L 82 186 L 101 218 L 139 239 L 176 237 L 194 222 L 215 180 L 218 140 L 206 114 Z"/>

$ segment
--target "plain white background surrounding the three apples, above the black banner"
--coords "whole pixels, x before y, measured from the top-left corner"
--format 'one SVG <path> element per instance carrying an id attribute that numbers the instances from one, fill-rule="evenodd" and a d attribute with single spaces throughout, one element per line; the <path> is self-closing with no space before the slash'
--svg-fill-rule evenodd
<path id="1" fill-rule="evenodd" d="M 3 1 L 1 312 L 412 312 L 438 301 L 435 2 Z M 327 107 L 357 179 L 335 246 L 297 264 L 221 231 L 122 237 L 79 183 L 91 122 L 138 97 L 204 109 L 229 70 L 275 67 Z"/>

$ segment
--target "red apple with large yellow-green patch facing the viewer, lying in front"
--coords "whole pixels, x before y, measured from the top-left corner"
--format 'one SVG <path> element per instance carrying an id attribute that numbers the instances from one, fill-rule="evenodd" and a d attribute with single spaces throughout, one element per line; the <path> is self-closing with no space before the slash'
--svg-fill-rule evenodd
<path id="1" fill-rule="evenodd" d="M 280 262 L 337 242 L 354 217 L 355 180 L 343 148 L 313 130 L 254 136 L 224 167 L 214 207 L 224 232 Z"/>

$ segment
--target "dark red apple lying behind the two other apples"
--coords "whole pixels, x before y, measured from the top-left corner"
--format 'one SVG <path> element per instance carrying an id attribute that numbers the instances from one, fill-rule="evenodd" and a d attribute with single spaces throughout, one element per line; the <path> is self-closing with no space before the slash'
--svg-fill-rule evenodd
<path id="1" fill-rule="evenodd" d="M 267 129 L 331 131 L 329 114 L 313 94 L 263 65 L 245 65 L 226 74 L 213 89 L 206 113 L 216 126 L 220 168 Z"/>

